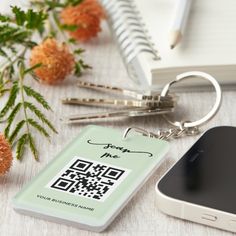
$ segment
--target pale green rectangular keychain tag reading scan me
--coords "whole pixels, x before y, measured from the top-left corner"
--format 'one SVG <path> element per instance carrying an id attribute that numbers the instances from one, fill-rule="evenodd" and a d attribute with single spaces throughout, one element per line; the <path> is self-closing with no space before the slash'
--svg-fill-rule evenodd
<path id="1" fill-rule="evenodd" d="M 169 143 L 87 126 L 13 199 L 20 213 L 102 231 L 157 169 Z"/>

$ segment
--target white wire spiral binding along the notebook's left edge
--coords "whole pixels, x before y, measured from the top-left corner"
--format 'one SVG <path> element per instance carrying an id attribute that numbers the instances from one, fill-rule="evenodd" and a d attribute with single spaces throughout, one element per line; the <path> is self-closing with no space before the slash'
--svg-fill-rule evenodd
<path id="1" fill-rule="evenodd" d="M 109 26 L 118 44 L 128 74 L 137 80 L 132 61 L 140 53 L 148 53 L 153 60 L 160 60 L 158 50 L 142 22 L 133 0 L 100 0 L 107 12 Z"/>

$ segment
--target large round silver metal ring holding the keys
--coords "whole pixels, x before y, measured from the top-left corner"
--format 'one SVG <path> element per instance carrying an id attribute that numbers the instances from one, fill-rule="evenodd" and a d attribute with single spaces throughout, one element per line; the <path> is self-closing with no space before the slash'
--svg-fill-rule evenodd
<path id="1" fill-rule="evenodd" d="M 180 75 L 177 75 L 175 80 L 173 80 L 172 82 L 165 85 L 165 87 L 163 88 L 163 90 L 161 92 L 161 96 L 165 97 L 166 95 L 168 95 L 171 85 L 173 85 L 175 83 L 178 83 L 182 80 L 190 79 L 190 78 L 193 78 L 193 77 L 195 77 L 195 78 L 200 77 L 200 78 L 208 80 L 212 83 L 212 85 L 213 85 L 213 87 L 215 88 L 215 91 L 216 91 L 215 104 L 214 104 L 213 108 L 209 111 L 209 113 L 207 115 L 205 115 L 200 120 L 197 120 L 197 121 L 194 121 L 194 122 L 171 121 L 167 118 L 166 115 L 163 115 L 164 118 L 166 119 L 166 121 L 169 122 L 170 124 L 174 125 L 174 126 L 184 127 L 184 128 L 191 128 L 191 127 L 200 126 L 200 125 L 206 123 L 207 121 L 209 121 L 210 119 L 212 119 L 215 116 L 215 114 L 217 113 L 217 111 L 220 107 L 221 100 L 222 100 L 222 91 L 221 91 L 219 83 L 211 75 L 209 75 L 207 73 L 204 73 L 204 72 L 200 72 L 200 71 L 190 71 L 190 72 L 185 72 L 185 73 L 182 73 Z"/>

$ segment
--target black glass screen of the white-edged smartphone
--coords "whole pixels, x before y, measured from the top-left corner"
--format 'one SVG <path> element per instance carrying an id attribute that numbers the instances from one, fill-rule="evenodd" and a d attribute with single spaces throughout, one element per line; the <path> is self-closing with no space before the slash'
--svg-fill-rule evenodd
<path id="1" fill-rule="evenodd" d="M 158 189 L 175 199 L 236 214 L 236 128 L 207 131 Z"/>

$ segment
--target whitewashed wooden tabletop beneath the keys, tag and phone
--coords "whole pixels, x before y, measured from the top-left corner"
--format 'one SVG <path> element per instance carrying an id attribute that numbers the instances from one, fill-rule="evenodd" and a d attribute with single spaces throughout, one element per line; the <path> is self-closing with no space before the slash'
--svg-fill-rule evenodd
<path id="1" fill-rule="evenodd" d="M 85 45 L 87 49 L 87 62 L 93 66 L 91 73 L 86 74 L 83 79 L 118 86 L 130 86 L 133 84 L 129 81 L 122 60 L 111 40 L 111 36 L 104 26 L 104 31 L 99 38 Z M 26 152 L 22 162 L 14 160 L 11 171 L 8 175 L 0 177 L 0 235 L 1 236 L 70 236 L 70 235 L 233 235 L 226 231 L 206 227 L 203 225 L 183 221 L 160 212 L 156 206 L 156 194 L 154 186 L 156 181 L 164 172 L 178 160 L 187 149 L 197 140 L 198 137 L 186 137 L 172 141 L 171 150 L 166 156 L 164 164 L 156 173 L 147 181 L 136 196 L 128 203 L 119 216 L 113 221 L 108 229 L 100 234 L 60 225 L 56 223 L 39 220 L 29 216 L 20 215 L 12 209 L 11 199 L 28 183 L 33 176 L 42 170 L 47 163 L 70 142 L 85 124 L 66 125 L 60 122 L 60 117 L 65 114 L 95 112 L 97 108 L 74 107 L 62 105 L 60 99 L 65 96 L 101 96 L 101 93 L 94 93 L 85 89 L 79 89 L 75 86 L 76 80 L 70 78 L 60 86 L 45 86 L 34 81 L 27 83 L 37 88 L 50 102 L 54 113 L 48 114 L 51 121 L 57 127 L 59 134 L 52 135 L 51 143 L 42 140 L 37 133 L 34 134 L 37 145 L 40 149 L 40 162 L 37 163 L 29 152 Z M 217 116 L 202 127 L 206 130 L 217 125 L 235 125 L 236 124 L 236 92 L 224 92 L 223 104 Z M 2 101 L 2 100 L 1 100 Z M 184 107 L 180 108 L 180 113 L 184 119 L 195 119 L 206 113 L 214 101 L 212 92 L 195 92 L 181 94 L 180 102 Z M 0 104 L 0 106 L 2 103 Z M 102 109 L 100 109 L 102 110 Z M 99 122 L 98 124 L 125 129 L 127 126 L 135 125 L 151 131 L 158 128 L 166 127 L 166 124 L 160 117 L 144 117 L 131 119 L 116 119 Z M 0 130 L 3 126 L 0 124 Z"/>

